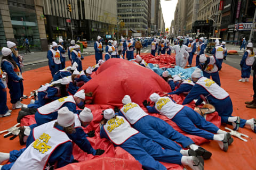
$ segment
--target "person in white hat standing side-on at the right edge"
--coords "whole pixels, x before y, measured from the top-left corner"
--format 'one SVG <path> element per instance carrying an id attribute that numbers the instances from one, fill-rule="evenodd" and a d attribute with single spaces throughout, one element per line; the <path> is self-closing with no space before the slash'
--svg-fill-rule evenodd
<path id="1" fill-rule="evenodd" d="M 240 79 L 239 81 L 249 82 L 249 78 L 250 78 L 250 74 L 251 74 L 251 70 L 252 70 L 252 64 L 255 60 L 254 56 L 255 56 L 255 53 L 253 52 L 252 43 L 248 43 L 247 49 L 244 52 L 244 56 L 240 62 L 242 79 Z"/>

